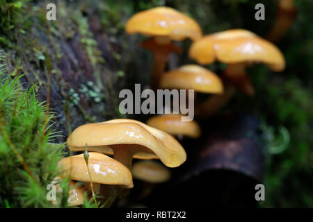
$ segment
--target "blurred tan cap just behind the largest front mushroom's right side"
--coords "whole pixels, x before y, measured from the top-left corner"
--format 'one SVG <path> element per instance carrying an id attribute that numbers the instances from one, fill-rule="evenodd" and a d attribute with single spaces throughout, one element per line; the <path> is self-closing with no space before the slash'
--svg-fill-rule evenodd
<path id="1" fill-rule="evenodd" d="M 198 138 L 201 135 L 200 126 L 196 121 L 182 121 L 182 114 L 162 114 L 151 117 L 147 125 L 162 130 L 170 135 L 184 135 Z"/>

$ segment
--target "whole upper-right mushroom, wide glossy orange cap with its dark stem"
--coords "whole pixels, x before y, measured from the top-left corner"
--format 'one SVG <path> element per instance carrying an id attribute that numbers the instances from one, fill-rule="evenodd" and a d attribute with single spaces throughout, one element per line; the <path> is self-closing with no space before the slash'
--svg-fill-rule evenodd
<path id="1" fill-rule="evenodd" d="M 202 65 L 207 65 L 215 60 L 227 64 L 222 78 L 225 80 L 227 94 L 211 98 L 207 103 L 198 107 L 201 113 L 213 110 L 213 113 L 232 97 L 235 85 L 242 92 L 252 96 L 254 94 L 250 79 L 246 75 L 246 67 L 251 62 L 262 62 L 273 71 L 282 71 L 285 67 L 284 56 L 271 42 L 247 30 L 232 29 L 204 36 L 194 42 L 189 50 L 189 57 Z M 222 101 L 216 103 L 216 101 Z M 215 106 L 214 106 L 215 105 Z"/>

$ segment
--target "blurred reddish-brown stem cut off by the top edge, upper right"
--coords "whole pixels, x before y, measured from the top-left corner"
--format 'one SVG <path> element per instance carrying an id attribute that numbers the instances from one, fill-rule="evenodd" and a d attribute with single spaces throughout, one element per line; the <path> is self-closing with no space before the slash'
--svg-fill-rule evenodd
<path id="1" fill-rule="evenodd" d="M 297 10 L 294 6 L 294 0 L 280 0 L 275 22 L 266 38 L 271 42 L 278 42 L 291 27 L 296 19 L 296 15 Z"/>

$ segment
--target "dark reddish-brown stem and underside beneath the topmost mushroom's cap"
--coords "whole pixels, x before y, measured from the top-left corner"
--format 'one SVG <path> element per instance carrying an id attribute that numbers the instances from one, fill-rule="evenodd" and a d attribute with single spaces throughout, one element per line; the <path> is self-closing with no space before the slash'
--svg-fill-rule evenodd
<path id="1" fill-rule="evenodd" d="M 153 65 L 151 87 L 156 91 L 164 73 L 168 56 L 170 53 L 180 53 L 182 50 L 175 46 L 168 37 L 150 38 L 142 42 L 141 46 L 152 51 Z"/>

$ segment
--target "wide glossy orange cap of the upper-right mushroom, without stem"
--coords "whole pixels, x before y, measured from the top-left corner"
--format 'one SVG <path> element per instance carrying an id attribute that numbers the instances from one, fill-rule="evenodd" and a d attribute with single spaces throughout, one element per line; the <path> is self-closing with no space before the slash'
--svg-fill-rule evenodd
<path id="1" fill-rule="evenodd" d="M 189 57 L 200 64 L 219 60 L 225 63 L 263 62 L 273 71 L 282 71 L 285 67 L 284 56 L 278 47 L 242 29 L 202 37 L 191 45 Z"/>

